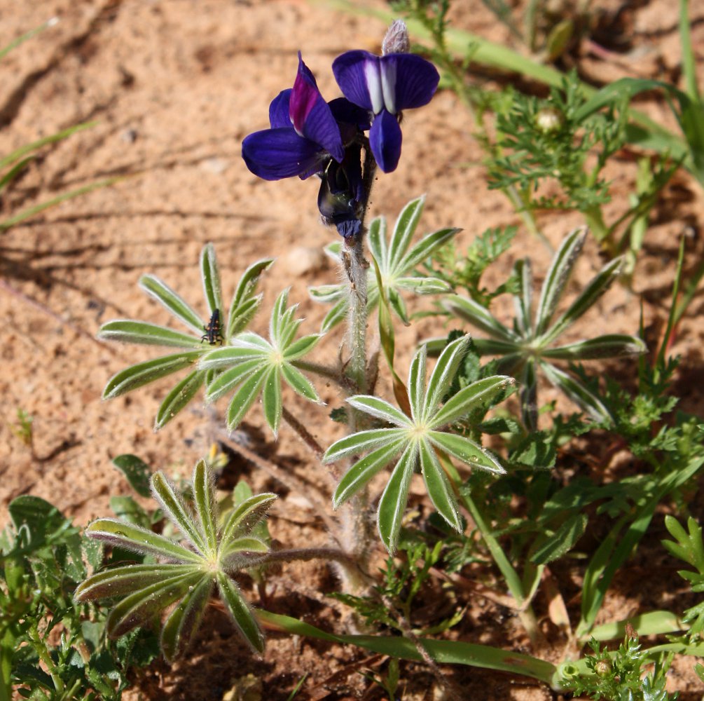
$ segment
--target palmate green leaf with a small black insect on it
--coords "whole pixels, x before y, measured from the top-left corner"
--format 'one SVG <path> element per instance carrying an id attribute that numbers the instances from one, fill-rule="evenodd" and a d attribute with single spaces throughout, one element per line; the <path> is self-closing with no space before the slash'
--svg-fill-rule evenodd
<path id="1" fill-rule="evenodd" d="M 263 259 L 246 269 L 232 298 L 227 323 L 222 309 L 222 288 L 213 244 L 203 247 L 200 258 L 203 293 L 208 307 L 208 316 L 205 319 L 163 280 L 155 275 L 142 275 L 139 287 L 184 324 L 190 335 L 145 321 L 117 319 L 101 326 L 98 337 L 125 343 L 184 348 L 189 351 L 162 356 L 125 368 L 108 380 L 103 398 L 118 397 L 171 373 L 190 368 L 191 372 L 172 388 L 158 409 L 154 428 L 163 428 L 191 402 L 204 384 L 218 380 L 218 373 L 213 372 L 213 368 L 218 367 L 216 364 L 208 368 L 196 367 L 196 364 L 199 359 L 213 351 L 214 345 L 227 344 L 235 334 L 244 331 L 261 302 L 261 295 L 255 294 L 260 275 L 271 263 L 272 259 Z M 221 390 L 222 385 L 222 382 L 218 385 Z M 229 387 L 222 391 L 227 389 Z"/>

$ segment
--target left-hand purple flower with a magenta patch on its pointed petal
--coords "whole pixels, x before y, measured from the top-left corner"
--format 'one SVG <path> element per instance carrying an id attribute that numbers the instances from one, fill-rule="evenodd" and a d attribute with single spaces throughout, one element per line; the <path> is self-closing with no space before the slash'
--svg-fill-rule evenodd
<path id="1" fill-rule="evenodd" d="M 273 99 L 269 123 L 270 129 L 242 142 L 247 168 L 264 180 L 308 178 L 324 170 L 329 159 L 341 163 L 344 158 L 340 128 L 300 51 L 294 87 Z"/>

